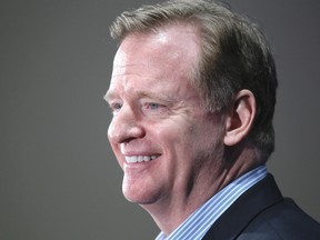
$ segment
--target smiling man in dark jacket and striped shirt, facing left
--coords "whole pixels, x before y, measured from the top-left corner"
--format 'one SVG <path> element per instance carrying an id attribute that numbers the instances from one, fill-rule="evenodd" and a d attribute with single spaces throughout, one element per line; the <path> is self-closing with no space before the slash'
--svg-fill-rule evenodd
<path id="1" fill-rule="evenodd" d="M 277 77 L 256 26 L 177 0 L 123 12 L 111 36 L 108 137 L 123 194 L 151 214 L 157 239 L 320 238 L 264 166 Z"/>

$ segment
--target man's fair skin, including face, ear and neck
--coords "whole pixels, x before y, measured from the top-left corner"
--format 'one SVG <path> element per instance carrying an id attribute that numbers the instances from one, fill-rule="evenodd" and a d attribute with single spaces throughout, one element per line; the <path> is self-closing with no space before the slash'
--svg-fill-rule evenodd
<path id="1" fill-rule="evenodd" d="M 188 24 L 129 34 L 114 57 L 106 94 L 113 112 L 108 138 L 123 170 L 123 194 L 166 234 L 254 159 L 248 150 L 241 154 L 246 161 L 222 164 L 226 146 L 250 130 L 254 98 L 242 90 L 226 116 L 209 113 L 191 83 L 199 53 L 198 31 Z"/>

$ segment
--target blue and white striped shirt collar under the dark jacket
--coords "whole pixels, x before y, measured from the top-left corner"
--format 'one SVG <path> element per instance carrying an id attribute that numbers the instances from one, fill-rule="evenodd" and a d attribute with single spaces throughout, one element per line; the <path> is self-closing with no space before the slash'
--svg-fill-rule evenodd
<path id="1" fill-rule="evenodd" d="M 247 172 L 209 199 L 170 236 L 166 237 L 163 232 L 160 232 L 156 240 L 202 239 L 214 221 L 232 204 L 232 202 L 266 176 L 266 166 L 260 166 Z"/>

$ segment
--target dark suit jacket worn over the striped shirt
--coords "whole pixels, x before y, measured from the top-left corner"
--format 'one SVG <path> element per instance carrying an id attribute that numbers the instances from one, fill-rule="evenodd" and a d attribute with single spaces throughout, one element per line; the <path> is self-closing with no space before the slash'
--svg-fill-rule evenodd
<path id="1" fill-rule="evenodd" d="M 320 240 L 320 224 L 283 198 L 271 174 L 246 191 L 203 240 Z"/>

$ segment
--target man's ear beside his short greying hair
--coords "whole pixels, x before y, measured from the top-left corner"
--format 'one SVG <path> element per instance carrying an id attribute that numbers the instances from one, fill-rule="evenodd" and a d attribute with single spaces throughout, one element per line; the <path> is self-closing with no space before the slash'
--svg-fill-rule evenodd
<path id="1" fill-rule="evenodd" d="M 249 134 L 256 110 L 253 93 L 247 89 L 239 91 L 226 118 L 226 146 L 234 146 Z"/>

